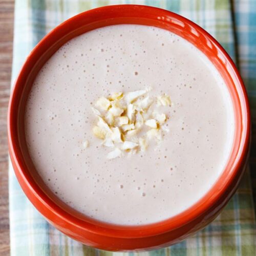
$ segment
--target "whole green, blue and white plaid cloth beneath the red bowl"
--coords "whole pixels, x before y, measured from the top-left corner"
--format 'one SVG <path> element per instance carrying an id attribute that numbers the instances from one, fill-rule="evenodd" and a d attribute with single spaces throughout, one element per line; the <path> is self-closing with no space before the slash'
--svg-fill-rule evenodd
<path id="1" fill-rule="evenodd" d="M 254 0 L 16 0 L 12 84 L 37 42 L 63 20 L 92 8 L 112 4 L 143 4 L 177 12 L 207 30 L 227 50 L 248 90 L 253 129 L 256 124 L 256 1 Z M 256 167 L 252 141 L 252 170 Z M 252 174 L 256 191 L 256 172 Z M 255 255 L 256 231 L 251 179 L 247 170 L 237 193 L 221 215 L 187 240 L 164 249 L 118 253 L 84 246 L 60 233 L 33 207 L 10 164 L 10 236 L 12 256 L 41 255 Z"/>

